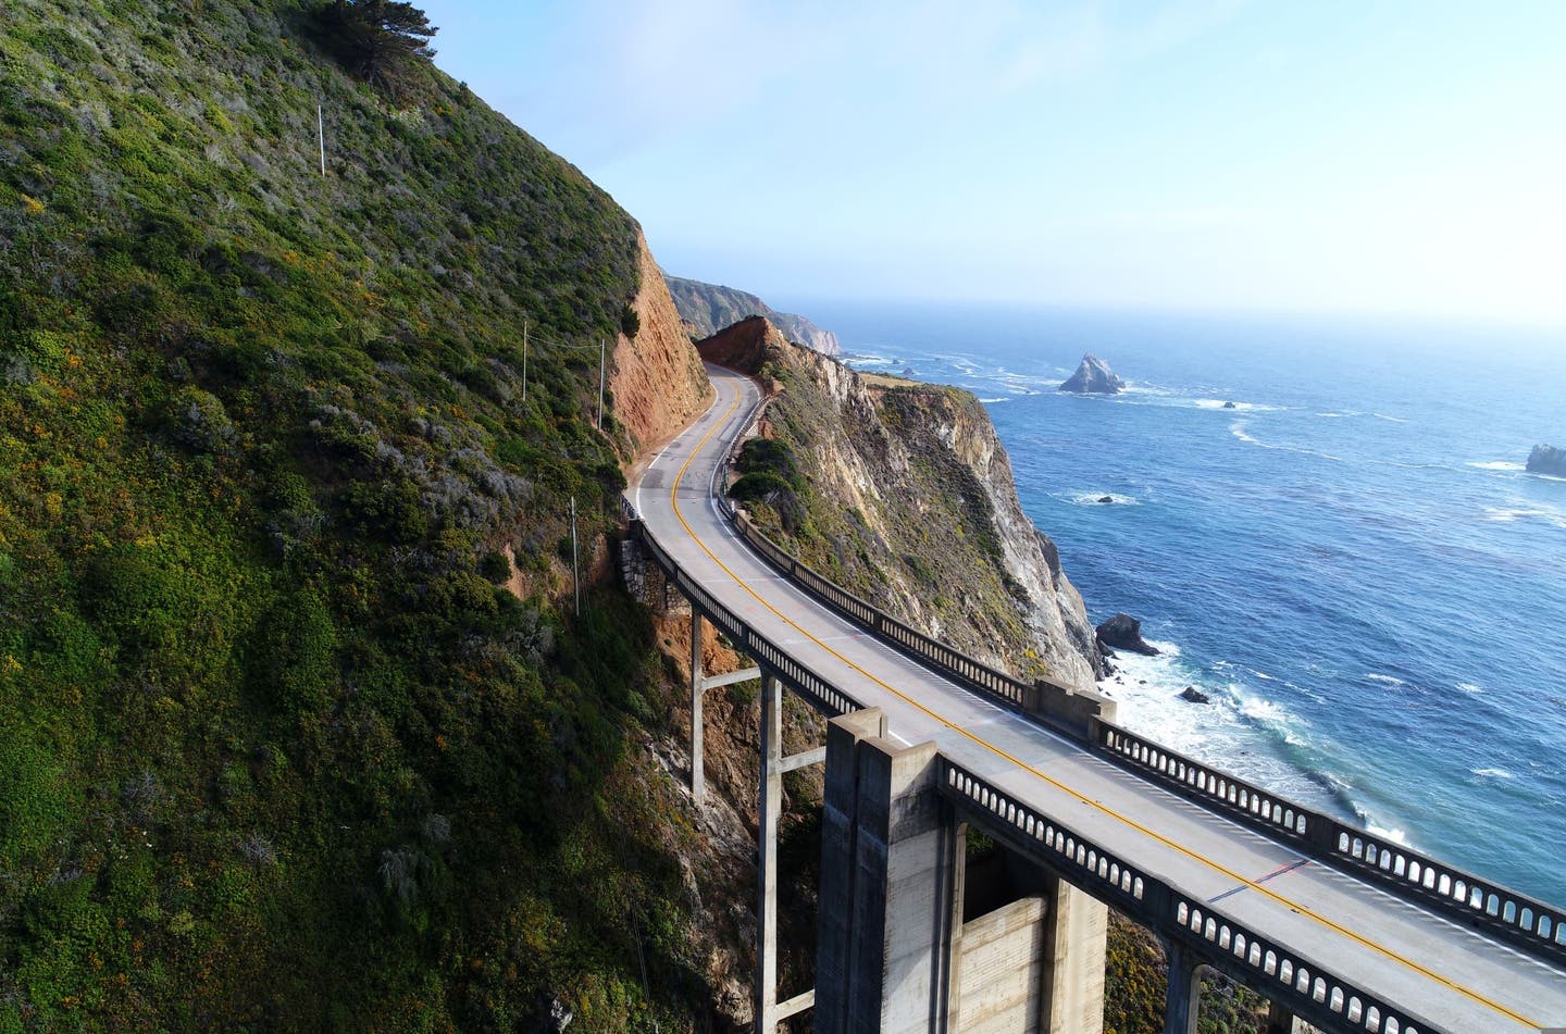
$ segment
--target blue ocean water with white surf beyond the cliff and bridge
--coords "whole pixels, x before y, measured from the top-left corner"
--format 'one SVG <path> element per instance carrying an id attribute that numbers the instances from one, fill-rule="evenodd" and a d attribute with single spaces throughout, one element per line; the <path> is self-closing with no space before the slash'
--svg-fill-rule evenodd
<path id="1" fill-rule="evenodd" d="M 1566 902 L 1566 481 L 1522 468 L 1566 445 L 1566 335 L 800 310 L 857 368 L 985 401 L 1088 614 L 1165 649 L 1106 683 L 1129 727 Z M 1126 393 L 1055 390 L 1088 351 Z"/>

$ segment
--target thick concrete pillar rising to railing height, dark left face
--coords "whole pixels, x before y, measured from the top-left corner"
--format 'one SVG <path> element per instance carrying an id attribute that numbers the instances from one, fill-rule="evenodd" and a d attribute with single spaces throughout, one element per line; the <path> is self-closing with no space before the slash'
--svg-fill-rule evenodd
<path id="1" fill-rule="evenodd" d="M 827 727 L 816 1031 L 946 1031 L 963 837 L 935 744 L 883 736 L 880 711 Z"/>

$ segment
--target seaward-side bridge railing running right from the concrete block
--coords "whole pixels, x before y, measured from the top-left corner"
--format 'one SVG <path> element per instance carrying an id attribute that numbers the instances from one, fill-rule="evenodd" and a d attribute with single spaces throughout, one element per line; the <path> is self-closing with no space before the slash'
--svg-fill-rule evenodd
<path id="1" fill-rule="evenodd" d="M 1519 948 L 1566 962 L 1566 910 L 1389 843 L 1118 725 L 1099 722 L 1093 746 L 1143 779 L 1261 829 L 1308 857 L 1367 877 Z"/>

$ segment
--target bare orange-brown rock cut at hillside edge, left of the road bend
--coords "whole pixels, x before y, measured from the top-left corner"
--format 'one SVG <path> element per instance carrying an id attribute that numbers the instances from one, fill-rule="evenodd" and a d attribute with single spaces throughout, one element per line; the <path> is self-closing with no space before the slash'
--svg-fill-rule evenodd
<path id="1" fill-rule="evenodd" d="M 630 431 L 633 453 L 640 456 L 691 423 L 711 398 L 713 385 L 640 232 L 637 246 L 640 285 L 631 309 L 639 326 L 634 338 L 620 334 L 614 343 L 609 390 L 614 415 Z"/>

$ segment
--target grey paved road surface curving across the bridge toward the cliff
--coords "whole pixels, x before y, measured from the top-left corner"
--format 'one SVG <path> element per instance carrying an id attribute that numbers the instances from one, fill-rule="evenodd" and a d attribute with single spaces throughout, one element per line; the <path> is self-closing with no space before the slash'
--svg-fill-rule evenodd
<path id="1" fill-rule="evenodd" d="M 722 519 L 711 475 L 760 401 L 708 365 L 713 406 L 630 494 L 647 531 L 723 606 L 952 761 L 1300 956 L 1453 1034 L 1566 1026 L 1566 971 L 1304 859 L 919 666 L 833 614 Z"/>

